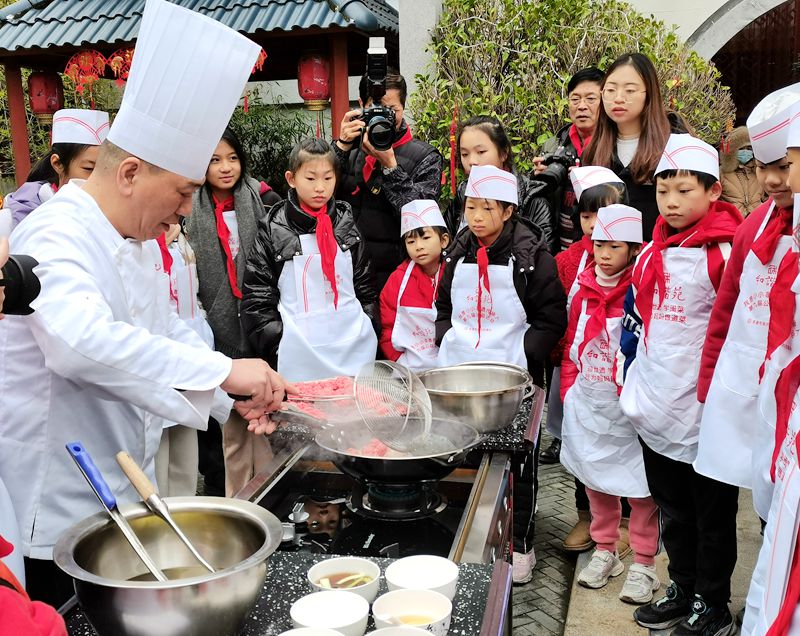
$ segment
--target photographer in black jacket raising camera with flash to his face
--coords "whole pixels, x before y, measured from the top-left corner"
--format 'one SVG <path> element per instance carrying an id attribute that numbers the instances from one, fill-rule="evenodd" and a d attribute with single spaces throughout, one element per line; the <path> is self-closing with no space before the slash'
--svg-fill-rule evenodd
<path id="1" fill-rule="evenodd" d="M 417 199 L 436 201 L 442 188 L 442 156 L 414 139 L 403 119 L 406 90 L 403 76 L 387 67 L 383 38 L 370 38 L 367 73 L 358 85 L 361 108 L 345 113 L 334 144 L 342 166 L 336 199 L 353 207 L 378 290 L 405 258 L 397 240 L 401 208 Z"/>

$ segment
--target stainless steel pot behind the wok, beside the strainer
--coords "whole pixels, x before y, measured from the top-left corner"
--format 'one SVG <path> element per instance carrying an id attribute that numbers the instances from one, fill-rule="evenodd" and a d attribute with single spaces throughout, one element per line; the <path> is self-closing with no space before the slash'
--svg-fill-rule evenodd
<path id="1" fill-rule="evenodd" d="M 423 371 L 434 417 L 457 419 L 480 433 L 508 426 L 533 394 L 530 374 L 514 364 L 469 362 Z"/>

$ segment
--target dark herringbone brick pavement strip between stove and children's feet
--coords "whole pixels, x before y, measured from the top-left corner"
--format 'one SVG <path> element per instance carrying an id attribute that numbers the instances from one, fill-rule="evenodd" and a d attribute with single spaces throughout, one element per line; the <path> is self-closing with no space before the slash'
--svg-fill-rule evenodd
<path id="1" fill-rule="evenodd" d="M 542 448 L 551 437 L 542 435 Z M 514 636 L 561 636 L 567 619 L 570 589 L 577 555 L 561 549 L 561 542 L 577 521 L 575 482 L 561 464 L 539 465 L 533 579 L 515 585 L 512 597 Z"/>

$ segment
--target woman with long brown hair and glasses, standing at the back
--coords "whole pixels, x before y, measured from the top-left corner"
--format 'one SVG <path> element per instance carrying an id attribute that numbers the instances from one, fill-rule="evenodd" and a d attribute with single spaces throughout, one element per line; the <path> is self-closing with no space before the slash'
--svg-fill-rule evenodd
<path id="1" fill-rule="evenodd" d="M 679 118 L 667 115 L 658 74 L 642 53 L 621 55 L 608 67 L 601 86 L 603 108 L 581 164 L 604 166 L 624 182 L 629 203 L 642 212 L 644 240 L 658 218 L 653 171 L 670 132 L 686 132 Z"/>

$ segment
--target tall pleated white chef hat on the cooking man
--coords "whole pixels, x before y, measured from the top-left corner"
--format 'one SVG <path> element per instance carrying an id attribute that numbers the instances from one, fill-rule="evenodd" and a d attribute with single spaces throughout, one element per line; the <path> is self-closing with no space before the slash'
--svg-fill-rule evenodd
<path id="1" fill-rule="evenodd" d="M 203 179 L 260 50 L 216 20 L 147 0 L 108 140 L 160 168 Z"/>

